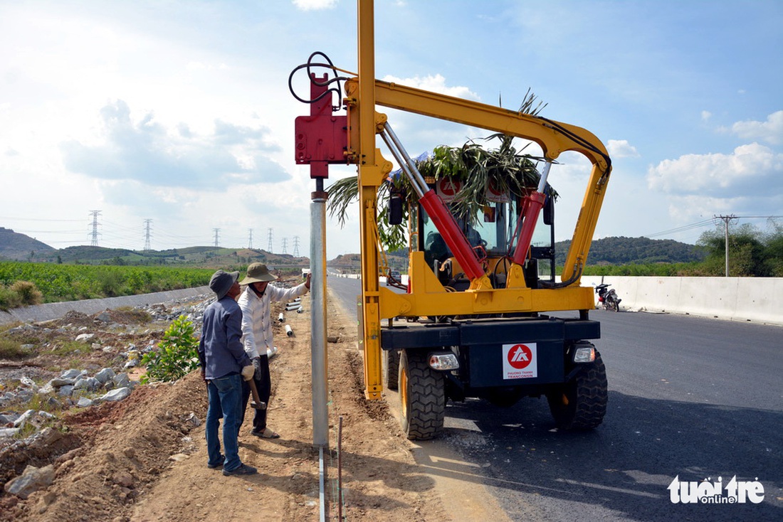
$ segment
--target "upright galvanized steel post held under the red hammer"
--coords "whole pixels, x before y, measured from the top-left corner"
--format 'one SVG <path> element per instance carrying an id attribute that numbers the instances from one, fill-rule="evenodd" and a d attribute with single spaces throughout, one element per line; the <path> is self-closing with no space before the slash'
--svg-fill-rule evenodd
<path id="1" fill-rule="evenodd" d="M 329 444 L 327 409 L 327 197 L 323 178 L 316 178 L 310 203 L 310 352 L 312 358 L 312 444 Z"/>

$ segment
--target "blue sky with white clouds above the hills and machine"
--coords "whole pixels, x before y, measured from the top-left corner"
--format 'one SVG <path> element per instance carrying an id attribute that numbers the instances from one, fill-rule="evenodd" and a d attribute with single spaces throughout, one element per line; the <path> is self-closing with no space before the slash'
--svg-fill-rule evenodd
<path id="1" fill-rule="evenodd" d="M 309 107 L 287 78 L 314 51 L 356 70 L 355 10 L 0 2 L 0 226 L 89 244 L 99 210 L 104 247 L 140 250 L 151 219 L 155 250 L 214 244 L 215 229 L 222 247 L 247 247 L 252 229 L 267 249 L 272 229 L 272 250 L 308 255 L 314 182 L 293 136 Z M 375 14 L 377 77 L 510 109 L 531 88 L 543 116 L 604 142 L 596 238 L 695 243 L 715 215 L 764 229 L 783 214 L 783 2 L 377 0 Z M 412 155 L 489 134 L 379 110 Z M 559 240 L 589 165 L 558 159 Z M 328 257 L 359 251 L 356 212 L 345 229 L 329 221 Z"/>

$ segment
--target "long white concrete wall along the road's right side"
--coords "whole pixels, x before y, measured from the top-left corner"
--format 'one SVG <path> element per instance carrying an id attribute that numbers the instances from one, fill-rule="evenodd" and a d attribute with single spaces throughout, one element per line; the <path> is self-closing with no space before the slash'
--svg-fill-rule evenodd
<path id="1" fill-rule="evenodd" d="M 620 308 L 625 310 L 667 311 L 783 325 L 783 278 L 780 277 L 606 275 L 603 279 L 615 289 L 622 299 Z M 600 283 L 600 275 L 582 278 L 582 286 Z"/>

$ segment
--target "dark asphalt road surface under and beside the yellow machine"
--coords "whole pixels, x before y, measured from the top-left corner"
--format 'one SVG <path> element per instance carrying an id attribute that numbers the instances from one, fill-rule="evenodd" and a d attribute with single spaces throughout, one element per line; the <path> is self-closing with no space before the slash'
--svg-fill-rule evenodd
<path id="1" fill-rule="evenodd" d="M 355 306 L 358 280 L 329 285 Z M 557 431 L 544 398 L 449 403 L 443 436 L 418 444 L 461 460 L 432 459 L 431 473 L 484 484 L 511 520 L 783 520 L 783 327 L 623 311 L 590 319 L 601 321 L 609 382 L 600 427 Z M 719 477 L 715 502 L 672 502 L 670 487 Z M 756 499 L 760 483 L 763 500 L 728 503 L 732 477 Z"/>

